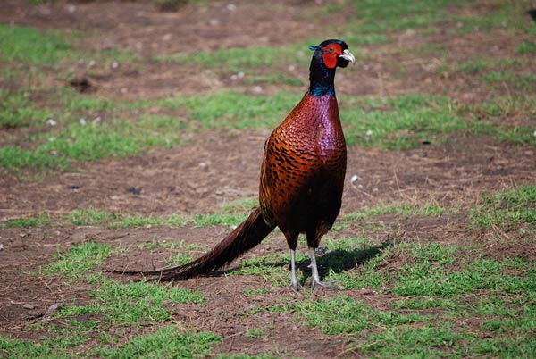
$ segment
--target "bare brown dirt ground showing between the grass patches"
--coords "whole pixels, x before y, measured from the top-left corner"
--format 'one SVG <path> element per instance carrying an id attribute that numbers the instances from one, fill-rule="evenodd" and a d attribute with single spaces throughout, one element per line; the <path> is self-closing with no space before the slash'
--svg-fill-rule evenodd
<path id="1" fill-rule="evenodd" d="M 63 31 L 83 29 L 97 33 L 98 37 L 88 37 L 77 46 L 130 49 L 140 54 L 147 59 L 143 71 L 115 71 L 93 79 L 96 83 L 94 95 L 130 100 L 207 93 L 231 86 L 229 79 L 197 69 L 195 64 L 193 68 L 186 69 L 179 66 L 165 68 L 162 63 L 151 62 L 152 55 L 285 45 L 324 36 L 322 21 L 333 21 L 335 17 L 337 21 L 346 21 L 346 18 L 340 18 L 340 13 L 325 15 L 322 21 L 309 21 L 308 16 L 317 8 L 314 2 L 289 0 L 269 3 L 259 5 L 236 1 L 233 2 L 236 9 L 231 11 L 226 2 L 208 2 L 187 5 L 175 13 L 163 13 L 148 2 L 58 1 L 29 6 L 22 1 L 8 0 L 4 1 L 3 10 L 0 10 L 0 23 L 12 22 Z M 349 15 L 350 11 L 346 16 Z M 482 47 L 489 48 L 486 53 L 490 56 L 510 52 L 513 46 L 507 35 L 480 40 L 482 35 L 475 33 L 458 38 L 438 35 L 434 41 L 449 50 L 456 49 L 453 59 L 462 53 L 471 54 L 474 44 L 479 44 L 480 51 Z M 360 63 L 355 70 L 341 73 L 339 88 L 345 93 L 360 96 L 430 91 L 448 94 L 467 103 L 507 92 L 505 88 L 478 88 L 469 77 L 442 78 L 437 72 L 423 70 L 428 69 L 427 64 L 433 63 L 433 55 L 406 58 L 393 50 L 393 46 L 412 41 L 416 46 L 423 40 L 403 34 L 390 47 L 366 47 L 363 57 L 367 62 Z M 479 52 L 474 50 L 474 54 Z M 390 69 L 392 63 L 405 64 L 406 75 L 400 77 Z M 79 71 L 80 76 L 86 75 L 84 69 Z M 306 79 L 306 69 L 296 71 Z M 232 86 L 247 89 L 247 84 Z M 121 91 L 121 88 L 128 88 L 128 91 Z M 268 86 L 264 91 L 270 93 L 275 89 Z M 80 208 L 152 216 L 218 212 L 226 203 L 256 196 L 267 135 L 254 131 L 204 132 L 193 135 L 188 146 L 152 151 L 125 160 L 80 163 L 76 171 L 54 172 L 34 181 L 21 181 L 16 173 L 3 171 L 0 178 L 0 217 L 5 221 L 44 211 L 61 214 Z M 534 149 L 530 146 L 507 145 L 490 138 L 465 138 L 463 135 L 453 136 L 447 145 L 423 145 L 405 152 L 352 146 L 348 148 L 348 181 L 342 213 L 397 202 L 471 205 L 485 191 L 533 182 L 536 178 L 534 158 Z M 208 165 L 201 166 L 200 163 Z M 354 174 L 359 176 L 359 180 L 350 183 L 349 178 Z M 127 188 L 131 187 L 141 188 L 141 193 L 128 192 Z M 462 240 L 462 235 L 466 235 L 465 221 L 460 219 L 409 219 L 401 226 L 405 228 L 402 239 L 409 241 L 456 243 Z M 209 247 L 225 233 L 225 229 L 218 227 L 120 230 L 88 226 L 0 228 L 0 243 L 4 245 L 0 251 L 0 332 L 13 338 L 37 339 L 38 334 L 24 330 L 24 326 L 46 316 L 49 305 L 88 300 L 88 288 L 30 274 L 51 262 L 51 255 L 73 243 L 93 240 L 134 246 L 157 238 Z M 477 240 L 481 235 L 470 233 L 465 237 Z M 387 233 L 380 234 L 380 237 L 384 236 Z M 285 250 L 282 238 L 275 238 L 270 245 L 255 248 L 254 253 Z M 500 255 L 504 251 L 504 246 L 490 248 L 489 255 Z M 138 250 L 129 256 L 114 257 L 103 266 L 160 267 L 165 257 L 164 249 Z M 281 350 L 297 357 L 320 358 L 344 351 L 344 339 L 322 335 L 319 330 L 291 321 L 288 313 L 270 313 L 254 319 L 237 315 L 255 305 L 264 305 L 262 296 L 244 295 L 247 289 L 272 287 L 262 278 L 211 277 L 181 282 L 180 286 L 197 289 L 207 296 L 207 305 L 180 305 L 175 313 L 191 328 L 222 335 L 224 340 L 215 347 L 216 353 L 253 355 Z M 335 294 L 320 292 L 314 295 Z M 290 293 L 286 296 L 300 295 Z M 358 296 L 372 305 L 385 305 L 378 302 L 372 292 L 364 290 Z M 25 308 L 23 305 L 26 303 L 35 308 Z M 248 328 L 266 325 L 274 328 L 269 336 L 249 338 L 244 335 Z"/>

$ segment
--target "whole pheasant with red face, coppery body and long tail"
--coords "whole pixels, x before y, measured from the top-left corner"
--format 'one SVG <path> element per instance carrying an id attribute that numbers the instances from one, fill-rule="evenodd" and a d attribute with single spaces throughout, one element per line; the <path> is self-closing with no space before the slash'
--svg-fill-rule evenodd
<path id="1" fill-rule="evenodd" d="M 335 96 L 335 70 L 356 59 L 348 45 L 336 39 L 310 49 L 314 54 L 309 89 L 264 144 L 259 206 L 246 221 L 190 263 L 155 271 L 116 272 L 142 273 L 163 281 L 205 275 L 231 263 L 279 227 L 290 249 L 292 288 L 300 288 L 296 276 L 299 234 L 307 238 L 312 287 L 329 287 L 320 280 L 315 249 L 339 214 L 346 172 L 347 149 Z"/>

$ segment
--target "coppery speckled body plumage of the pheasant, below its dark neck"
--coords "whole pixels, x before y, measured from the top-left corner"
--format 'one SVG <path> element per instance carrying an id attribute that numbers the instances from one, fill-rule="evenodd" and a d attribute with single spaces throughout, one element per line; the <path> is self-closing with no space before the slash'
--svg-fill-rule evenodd
<path id="1" fill-rule="evenodd" d="M 346 143 L 335 96 L 308 92 L 264 146 L 259 189 L 264 220 L 279 226 L 289 247 L 305 233 L 316 248 L 340 209 Z"/>

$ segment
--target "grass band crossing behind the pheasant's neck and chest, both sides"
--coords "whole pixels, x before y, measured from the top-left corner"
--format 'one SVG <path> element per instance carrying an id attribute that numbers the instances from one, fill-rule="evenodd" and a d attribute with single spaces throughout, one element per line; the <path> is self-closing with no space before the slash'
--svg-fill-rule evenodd
<path id="1" fill-rule="evenodd" d="M 26 143 L 34 144 L 33 148 L 13 145 L 0 148 L 0 165 L 54 169 L 67 168 L 73 161 L 125 157 L 152 147 L 180 144 L 181 132 L 185 128 L 188 131 L 199 128 L 269 129 L 281 121 L 297 100 L 297 96 L 286 93 L 259 97 L 222 92 L 210 97 L 177 97 L 157 102 L 170 109 L 186 109 L 188 122 L 155 115 L 144 115 L 134 122 L 113 119 L 106 123 L 81 123 L 65 119 L 71 123 L 25 138 Z M 349 145 L 408 149 L 419 146 L 423 141 L 444 143 L 454 132 L 486 132 L 508 142 L 521 140 L 536 145 L 529 128 L 486 127 L 484 123 L 473 122 L 465 116 L 465 107 L 445 97 L 413 94 L 390 99 L 344 98 L 344 101 L 348 103 L 341 110 L 341 117 Z M 147 107 L 142 103 L 131 105 Z M 77 111 L 85 106 L 106 111 L 110 104 L 101 101 L 71 104 L 71 108 Z M 489 107 L 487 111 L 490 111 Z M 223 117 L 222 113 L 225 113 Z M 19 123 L 18 120 L 13 121 Z"/>

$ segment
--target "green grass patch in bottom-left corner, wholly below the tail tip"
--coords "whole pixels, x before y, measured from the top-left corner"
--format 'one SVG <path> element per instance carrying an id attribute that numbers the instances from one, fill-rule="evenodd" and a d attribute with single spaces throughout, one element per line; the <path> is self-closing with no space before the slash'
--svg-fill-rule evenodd
<path id="1" fill-rule="evenodd" d="M 42 322 L 48 336 L 39 344 L 0 336 L 0 353 L 9 357 L 68 358 L 80 345 L 95 340 L 97 345 L 87 357 L 191 357 L 205 355 L 221 340 L 208 332 L 191 332 L 169 325 L 153 333 L 136 336 L 117 345 L 127 335 L 121 327 L 146 326 L 172 318 L 173 306 L 181 303 L 203 303 L 204 297 L 171 284 L 138 282 L 120 284 L 100 274 L 88 279 L 99 288 L 89 292 L 93 299 L 86 305 L 68 305 L 54 314 L 54 320 Z M 87 318 L 93 318 L 88 320 Z M 115 329 L 115 334 L 107 330 Z M 122 333 L 121 333 L 122 331 Z M 131 335 L 131 331 L 129 331 Z M 122 341 L 122 340 L 121 340 Z M 86 357 L 86 356 L 84 356 Z"/>

